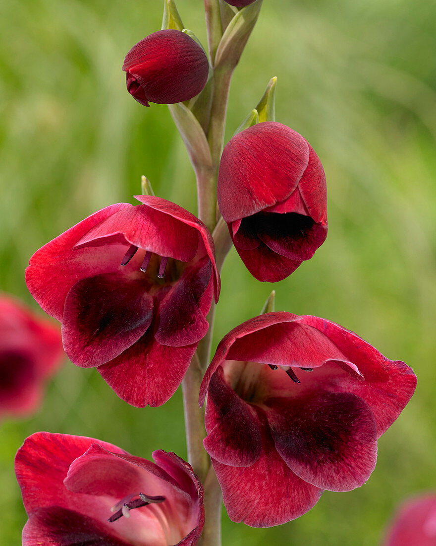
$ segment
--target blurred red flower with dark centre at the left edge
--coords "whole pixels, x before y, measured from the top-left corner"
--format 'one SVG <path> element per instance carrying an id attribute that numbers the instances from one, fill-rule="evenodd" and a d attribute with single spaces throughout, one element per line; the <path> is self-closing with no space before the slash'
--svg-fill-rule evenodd
<path id="1" fill-rule="evenodd" d="M 34 411 L 43 384 L 62 363 L 60 332 L 8 296 L 0 296 L 0 415 Z"/>

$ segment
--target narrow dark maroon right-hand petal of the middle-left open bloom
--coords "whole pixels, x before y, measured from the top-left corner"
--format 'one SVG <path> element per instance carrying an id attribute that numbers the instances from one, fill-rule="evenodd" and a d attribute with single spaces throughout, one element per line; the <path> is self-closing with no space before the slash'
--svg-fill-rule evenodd
<path id="1" fill-rule="evenodd" d="M 159 305 L 155 339 L 162 345 L 181 347 L 198 343 L 207 333 L 205 316 L 212 302 L 211 264 L 207 257 L 188 266 Z M 205 294 L 210 284 L 209 294 Z M 208 296 L 201 305 L 203 295 Z"/>

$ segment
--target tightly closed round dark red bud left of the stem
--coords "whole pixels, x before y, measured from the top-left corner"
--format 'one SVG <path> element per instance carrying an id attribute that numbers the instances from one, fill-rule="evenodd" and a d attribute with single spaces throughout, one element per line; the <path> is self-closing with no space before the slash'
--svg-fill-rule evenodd
<path id="1" fill-rule="evenodd" d="M 177 30 L 150 34 L 132 47 L 123 64 L 127 90 L 144 106 L 173 104 L 198 95 L 209 61 L 195 40 Z"/>

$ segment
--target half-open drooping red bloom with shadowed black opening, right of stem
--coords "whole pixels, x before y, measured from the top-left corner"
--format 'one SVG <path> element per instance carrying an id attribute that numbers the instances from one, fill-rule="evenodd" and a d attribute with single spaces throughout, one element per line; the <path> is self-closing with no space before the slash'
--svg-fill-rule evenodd
<path id="1" fill-rule="evenodd" d="M 259 281 L 286 278 L 327 235 L 323 166 L 310 144 L 281 123 L 258 123 L 227 143 L 218 203 L 239 256 Z"/>

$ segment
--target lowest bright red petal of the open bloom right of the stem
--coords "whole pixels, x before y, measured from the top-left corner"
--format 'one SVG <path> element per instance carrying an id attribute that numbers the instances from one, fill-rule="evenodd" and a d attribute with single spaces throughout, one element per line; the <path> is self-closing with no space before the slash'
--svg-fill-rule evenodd
<path id="1" fill-rule="evenodd" d="M 322 490 L 295 476 L 278 455 L 267 426 L 263 453 L 252 466 L 223 465 L 212 459 L 229 518 L 252 527 L 281 525 L 308 512 Z"/>

